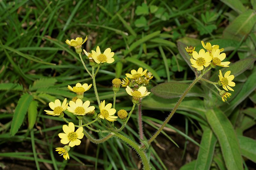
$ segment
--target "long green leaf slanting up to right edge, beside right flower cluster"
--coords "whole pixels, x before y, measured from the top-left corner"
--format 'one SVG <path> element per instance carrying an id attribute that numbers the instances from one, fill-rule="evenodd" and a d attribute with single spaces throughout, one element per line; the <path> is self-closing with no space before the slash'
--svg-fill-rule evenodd
<path id="1" fill-rule="evenodd" d="M 229 107 L 225 110 L 227 113 L 231 113 L 245 98 L 247 98 L 256 89 L 256 69 L 252 71 L 252 74 L 248 77 L 244 83 L 242 90 L 237 94 L 236 98 L 230 102 Z M 231 72 L 232 73 L 232 72 Z M 229 115 L 228 115 L 229 116 Z"/>

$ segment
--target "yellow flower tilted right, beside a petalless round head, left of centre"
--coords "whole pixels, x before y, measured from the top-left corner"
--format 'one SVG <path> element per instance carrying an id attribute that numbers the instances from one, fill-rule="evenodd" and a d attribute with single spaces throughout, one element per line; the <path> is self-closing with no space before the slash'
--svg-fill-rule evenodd
<path id="1" fill-rule="evenodd" d="M 116 109 L 111 108 L 112 104 L 108 103 L 105 106 L 105 100 L 103 102 L 100 102 L 100 118 L 101 119 L 107 119 L 109 122 L 114 122 L 116 121 L 117 116 L 113 116 L 116 113 Z"/>

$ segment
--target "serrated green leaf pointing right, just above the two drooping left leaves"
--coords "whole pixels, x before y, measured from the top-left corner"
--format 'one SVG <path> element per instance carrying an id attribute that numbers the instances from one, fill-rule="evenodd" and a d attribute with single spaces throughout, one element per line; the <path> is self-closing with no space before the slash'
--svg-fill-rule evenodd
<path id="1" fill-rule="evenodd" d="M 57 80 L 55 78 L 40 78 L 34 81 L 33 85 L 29 88 L 30 91 L 34 91 L 40 88 L 48 88 L 53 86 Z"/>

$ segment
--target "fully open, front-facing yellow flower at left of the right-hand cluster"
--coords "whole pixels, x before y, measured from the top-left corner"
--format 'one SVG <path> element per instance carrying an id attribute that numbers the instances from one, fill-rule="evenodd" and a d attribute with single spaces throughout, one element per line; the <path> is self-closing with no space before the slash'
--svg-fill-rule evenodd
<path id="1" fill-rule="evenodd" d="M 200 49 L 199 54 L 196 51 L 193 51 L 193 58 L 190 58 L 190 62 L 193 64 L 192 67 L 195 67 L 197 70 L 203 70 L 204 67 L 208 67 L 212 61 L 212 57 L 209 52 Z"/>

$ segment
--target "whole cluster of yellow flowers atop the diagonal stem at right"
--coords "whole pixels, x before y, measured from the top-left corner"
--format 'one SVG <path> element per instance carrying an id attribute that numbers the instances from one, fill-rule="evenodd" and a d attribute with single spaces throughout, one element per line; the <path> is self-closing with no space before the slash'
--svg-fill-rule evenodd
<path id="1" fill-rule="evenodd" d="M 224 51 L 224 48 L 220 48 L 219 45 L 211 45 L 210 42 L 207 42 L 206 45 L 204 44 L 204 41 L 201 41 L 201 43 L 203 48 L 207 50 L 206 52 L 204 49 L 200 49 L 199 53 L 197 53 L 195 51 L 195 48 L 193 48 L 192 46 L 186 48 L 188 55 L 191 56 L 190 62 L 192 64 L 192 67 L 196 68 L 198 71 L 206 70 L 206 67 L 208 66 L 210 66 L 210 69 L 215 68 L 216 66 L 229 67 L 228 65 L 230 64 L 230 62 L 223 62 L 223 60 L 226 58 L 226 54 L 221 53 Z M 231 71 L 227 71 L 223 77 L 221 70 L 219 70 L 219 82 L 212 82 L 212 84 L 215 85 L 217 90 L 220 92 L 220 96 L 222 98 L 222 101 L 224 102 L 227 101 L 227 97 L 231 96 L 231 93 L 220 90 L 216 85 L 222 86 L 222 88 L 226 91 L 234 91 L 231 87 L 234 87 L 236 85 L 232 81 L 235 76 L 230 75 L 230 73 Z"/>

